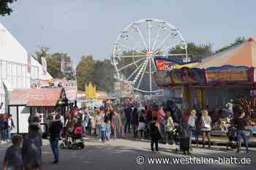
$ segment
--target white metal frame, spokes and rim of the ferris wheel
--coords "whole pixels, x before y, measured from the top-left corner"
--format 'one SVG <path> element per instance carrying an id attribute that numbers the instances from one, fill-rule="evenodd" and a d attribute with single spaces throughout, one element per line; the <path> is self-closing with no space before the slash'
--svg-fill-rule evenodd
<path id="1" fill-rule="evenodd" d="M 132 26 L 138 26 L 140 23 L 148 23 L 148 27 L 149 26 L 152 26 L 150 25 L 152 22 L 154 23 L 160 23 L 160 24 L 165 24 L 165 26 L 168 26 L 169 28 L 171 28 L 172 31 L 175 31 L 176 33 L 176 36 L 178 37 L 178 39 L 180 39 L 179 42 L 181 42 L 181 45 L 183 45 L 183 47 L 181 47 L 185 53 L 184 54 L 167 54 L 167 55 L 158 55 L 157 53 L 159 53 L 159 47 L 162 47 L 163 43 L 169 39 L 173 34 L 170 34 L 168 35 L 167 37 L 165 37 L 165 39 L 162 40 L 162 42 L 160 42 L 158 45 L 157 45 L 157 41 L 159 40 L 159 33 L 161 31 L 161 28 L 159 29 L 158 33 L 157 33 L 157 37 L 154 39 L 154 41 L 152 41 L 151 39 L 151 28 L 148 28 L 148 45 L 143 37 L 143 34 L 141 34 L 140 32 L 140 28 L 137 27 L 135 29 L 137 29 L 138 31 L 138 34 L 140 35 L 140 39 L 141 41 L 143 42 L 143 46 L 145 47 L 145 49 L 147 50 L 145 52 L 143 52 L 142 50 L 137 50 L 135 49 L 135 47 L 128 47 L 126 45 L 122 45 L 120 44 L 120 46 L 122 47 L 127 47 L 127 49 L 129 50 L 132 50 L 134 52 L 137 52 L 141 55 L 126 55 L 126 56 L 122 56 L 122 57 L 116 57 L 116 49 L 117 49 L 117 45 L 118 45 L 118 41 L 122 38 L 122 36 L 124 35 L 124 33 L 127 33 L 129 31 L 129 28 L 131 28 Z M 130 38 L 132 39 L 133 42 L 135 42 L 135 45 L 137 46 L 138 45 L 138 42 L 135 41 L 134 38 L 132 38 L 132 36 L 130 36 Z M 151 45 L 153 42 L 153 45 Z M 139 42 L 140 43 L 140 42 Z M 157 47 L 155 47 L 157 45 Z M 165 52 L 165 49 L 169 48 L 170 47 L 173 47 L 174 45 L 170 45 L 170 46 L 167 46 L 167 47 L 164 47 L 163 50 L 160 50 L 160 51 L 163 51 Z M 151 55 L 151 57 L 148 57 L 148 53 L 149 55 Z M 134 70 L 134 72 L 132 72 L 132 74 L 129 75 L 129 77 L 125 80 L 129 81 L 136 73 L 136 76 L 135 76 L 135 79 L 132 80 L 132 85 L 133 85 L 133 89 L 134 90 L 138 90 L 140 92 L 143 92 L 143 93 L 158 93 L 160 91 L 162 91 L 162 89 L 159 89 L 159 90 L 152 90 L 152 74 L 154 72 L 152 72 L 151 70 L 151 62 L 153 63 L 153 66 L 154 66 L 154 69 L 157 70 L 155 64 L 154 64 L 154 58 L 156 57 L 163 57 L 163 58 L 167 58 L 168 56 L 172 56 L 172 55 L 183 55 L 185 56 L 184 58 L 184 62 L 187 62 L 188 61 L 188 57 L 187 57 L 187 42 L 184 40 L 184 37 L 181 35 L 180 31 L 178 29 L 176 29 L 176 27 L 174 27 L 173 25 L 171 25 L 170 23 L 167 23 L 166 21 L 164 20 L 159 20 L 159 19 L 154 19 L 154 18 L 148 18 L 148 19 L 142 19 L 142 20 L 138 20 L 134 23 L 131 23 L 129 24 L 129 26 L 125 27 L 123 29 L 123 31 L 121 31 L 121 33 L 118 35 L 118 38 L 113 46 L 113 51 L 112 51 L 112 54 L 113 54 L 113 58 L 112 58 L 112 61 L 113 61 L 113 66 L 115 66 L 115 69 L 116 69 L 116 73 L 117 73 L 117 78 L 118 80 L 124 80 L 121 75 L 120 75 L 120 72 L 121 70 L 123 69 L 126 69 L 127 67 L 129 66 L 132 66 L 132 65 L 135 65 L 136 66 L 136 69 Z M 134 58 L 136 57 L 140 57 L 139 60 L 135 61 Z M 145 57 L 145 58 L 141 58 L 141 57 Z M 118 68 L 117 65 L 118 65 L 118 61 L 116 58 L 133 58 L 133 61 L 132 63 L 129 63 L 125 66 L 122 66 L 121 68 Z M 143 61 L 144 60 L 144 61 Z M 137 63 L 139 63 L 140 61 L 143 61 L 142 63 L 140 63 L 140 65 L 138 66 Z M 146 67 L 149 66 L 149 72 L 146 72 Z M 142 81 L 143 77 L 144 77 L 144 74 L 145 73 L 148 73 L 149 74 L 149 90 L 142 90 L 140 89 L 140 82 Z M 138 76 L 138 77 L 137 77 Z M 135 83 L 138 81 L 138 78 L 140 77 L 140 80 L 138 82 L 138 85 L 136 85 L 135 87 Z"/>

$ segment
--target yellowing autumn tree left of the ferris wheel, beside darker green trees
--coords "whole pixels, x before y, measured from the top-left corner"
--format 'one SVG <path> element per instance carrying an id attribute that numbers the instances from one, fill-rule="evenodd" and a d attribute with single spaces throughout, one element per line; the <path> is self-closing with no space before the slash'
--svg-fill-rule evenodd
<path id="1" fill-rule="evenodd" d="M 85 90 L 85 85 L 94 82 L 94 58 L 92 55 L 83 55 L 76 68 L 78 90 Z"/>

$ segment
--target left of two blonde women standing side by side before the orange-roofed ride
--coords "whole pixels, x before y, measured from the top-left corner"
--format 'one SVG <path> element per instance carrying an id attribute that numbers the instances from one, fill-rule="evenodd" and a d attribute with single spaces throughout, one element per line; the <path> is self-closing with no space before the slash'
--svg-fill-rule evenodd
<path id="1" fill-rule="evenodd" d="M 189 136 L 189 149 L 192 150 L 192 136 L 195 134 L 196 122 L 197 122 L 197 112 L 192 109 L 189 118 L 187 120 L 187 136 Z"/>

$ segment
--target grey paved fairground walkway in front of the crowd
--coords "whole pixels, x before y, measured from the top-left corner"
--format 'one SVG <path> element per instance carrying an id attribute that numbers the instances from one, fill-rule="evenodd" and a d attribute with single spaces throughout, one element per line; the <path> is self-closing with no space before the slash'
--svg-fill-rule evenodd
<path id="1" fill-rule="evenodd" d="M 2 160 L 6 146 L 0 147 L 0 159 Z M 252 158 L 251 164 L 149 164 L 138 165 L 135 158 L 144 155 L 146 158 L 186 158 L 187 156 L 175 152 L 176 146 L 159 144 L 159 152 L 151 152 L 149 143 L 143 141 L 132 141 L 128 139 L 117 139 L 115 141 L 102 144 L 90 138 L 86 141 L 84 150 L 60 150 L 60 163 L 53 165 L 53 155 L 48 145 L 44 141 L 42 147 L 43 170 L 169 170 L 169 169 L 255 169 L 256 150 L 252 149 L 248 154 L 241 152 L 225 152 L 223 147 L 211 147 L 211 149 L 196 148 L 192 152 L 192 157 L 218 158 L 218 156 L 238 156 L 240 158 Z M 141 160 L 140 160 L 141 161 Z"/>

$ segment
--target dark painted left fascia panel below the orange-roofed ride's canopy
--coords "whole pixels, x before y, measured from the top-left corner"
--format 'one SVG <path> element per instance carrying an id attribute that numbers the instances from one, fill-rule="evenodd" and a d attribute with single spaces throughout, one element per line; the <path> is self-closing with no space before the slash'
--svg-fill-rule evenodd
<path id="1" fill-rule="evenodd" d="M 204 69 L 183 67 L 168 72 L 173 85 L 205 84 L 206 76 Z"/>

